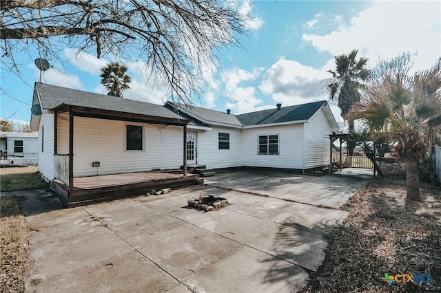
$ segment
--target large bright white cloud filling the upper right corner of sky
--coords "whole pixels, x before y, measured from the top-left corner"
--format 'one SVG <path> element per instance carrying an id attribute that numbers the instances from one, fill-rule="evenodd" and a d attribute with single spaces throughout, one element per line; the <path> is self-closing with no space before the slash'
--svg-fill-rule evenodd
<path id="1" fill-rule="evenodd" d="M 325 35 L 303 34 L 302 38 L 334 56 L 358 49 L 359 56 L 369 58 L 371 67 L 379 58 L 416 52 L 414 69 L 426 69 L 441 52 L 440 9 L 439 1 L 376 1 L 353 17 L 349 26 L 341 25 Z M 333 68 L 333 61 L 329 65 Z"/>

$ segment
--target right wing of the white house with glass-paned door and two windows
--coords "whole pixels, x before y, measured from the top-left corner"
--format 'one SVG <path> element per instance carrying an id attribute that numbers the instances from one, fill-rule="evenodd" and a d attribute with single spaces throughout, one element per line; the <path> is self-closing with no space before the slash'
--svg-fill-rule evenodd
<path id="1" fill-rule="evenodd" d="M 329 134 L 338 130 L 326 101 L 234 115 L 167 102 L 187 120 L 187 162 L 209 169 L 256 166 L 305 171 L 329 166 Z M 188 144 L 188 143 L 187 143 Z M 194 145 L 194 146 L 192 146 Z"/>

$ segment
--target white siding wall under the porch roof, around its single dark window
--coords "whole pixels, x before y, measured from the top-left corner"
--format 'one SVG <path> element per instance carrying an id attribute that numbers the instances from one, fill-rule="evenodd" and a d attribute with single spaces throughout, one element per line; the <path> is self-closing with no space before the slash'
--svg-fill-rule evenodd
<path id="1" fill-rule="evenodd" d="M 125 125 L 143 125 L 143 151 L 125 151 Z M 60 131 L 65 127 L 59 123 Z M 64 138 L 63 138 L 64 140 Z M 59 153 L 64 146 L 59 144 Z M 92 167 L 100 162 L 100 167 Z M 74 118 L 74 177 L 177 169 L 183 164 L 183 127 Z"/>

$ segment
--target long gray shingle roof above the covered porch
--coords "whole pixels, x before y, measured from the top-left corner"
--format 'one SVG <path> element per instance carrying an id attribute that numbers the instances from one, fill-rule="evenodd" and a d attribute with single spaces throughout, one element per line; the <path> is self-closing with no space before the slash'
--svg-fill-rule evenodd
<path id="1" fill-rule="evenodd" d="M 45 83 L 35 83 L 35 89 L 39 92 L 43 109 L 54 109 L 64 104 L 161 118 L 183 119 L 178 114 L 165 109 L 162 105 L 155 105 L 149 102 L 95 94 Z"/>

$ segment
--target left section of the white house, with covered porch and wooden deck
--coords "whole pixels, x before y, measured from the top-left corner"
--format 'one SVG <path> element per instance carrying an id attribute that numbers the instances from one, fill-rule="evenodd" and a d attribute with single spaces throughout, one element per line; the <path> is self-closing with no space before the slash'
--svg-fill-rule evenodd
<path id="1" fill-rule="evenodd" d="M 145 194 L 149 181 L 161 185 L 158 176 L 141 178 L 132 187 L 127 186 L 129 177 L 116 183 L 120 177 L 108 180 L 107 186 L 99 182 L 96 188 L 78 180 L 74 184 L 74 178 L 186 165 L 183 153 L 189 120 L 161 105 L 35 83 L 32 107 L 30 127 L 39 131 L 39 172 L 67 206 Z M 174 178 L 174 183 L 192 180 L 185 172 L 185 178 Z M 200 183 L 198 177 L 193 179 Z M 145 184 L 140 185 L 142 181 Z"/>

